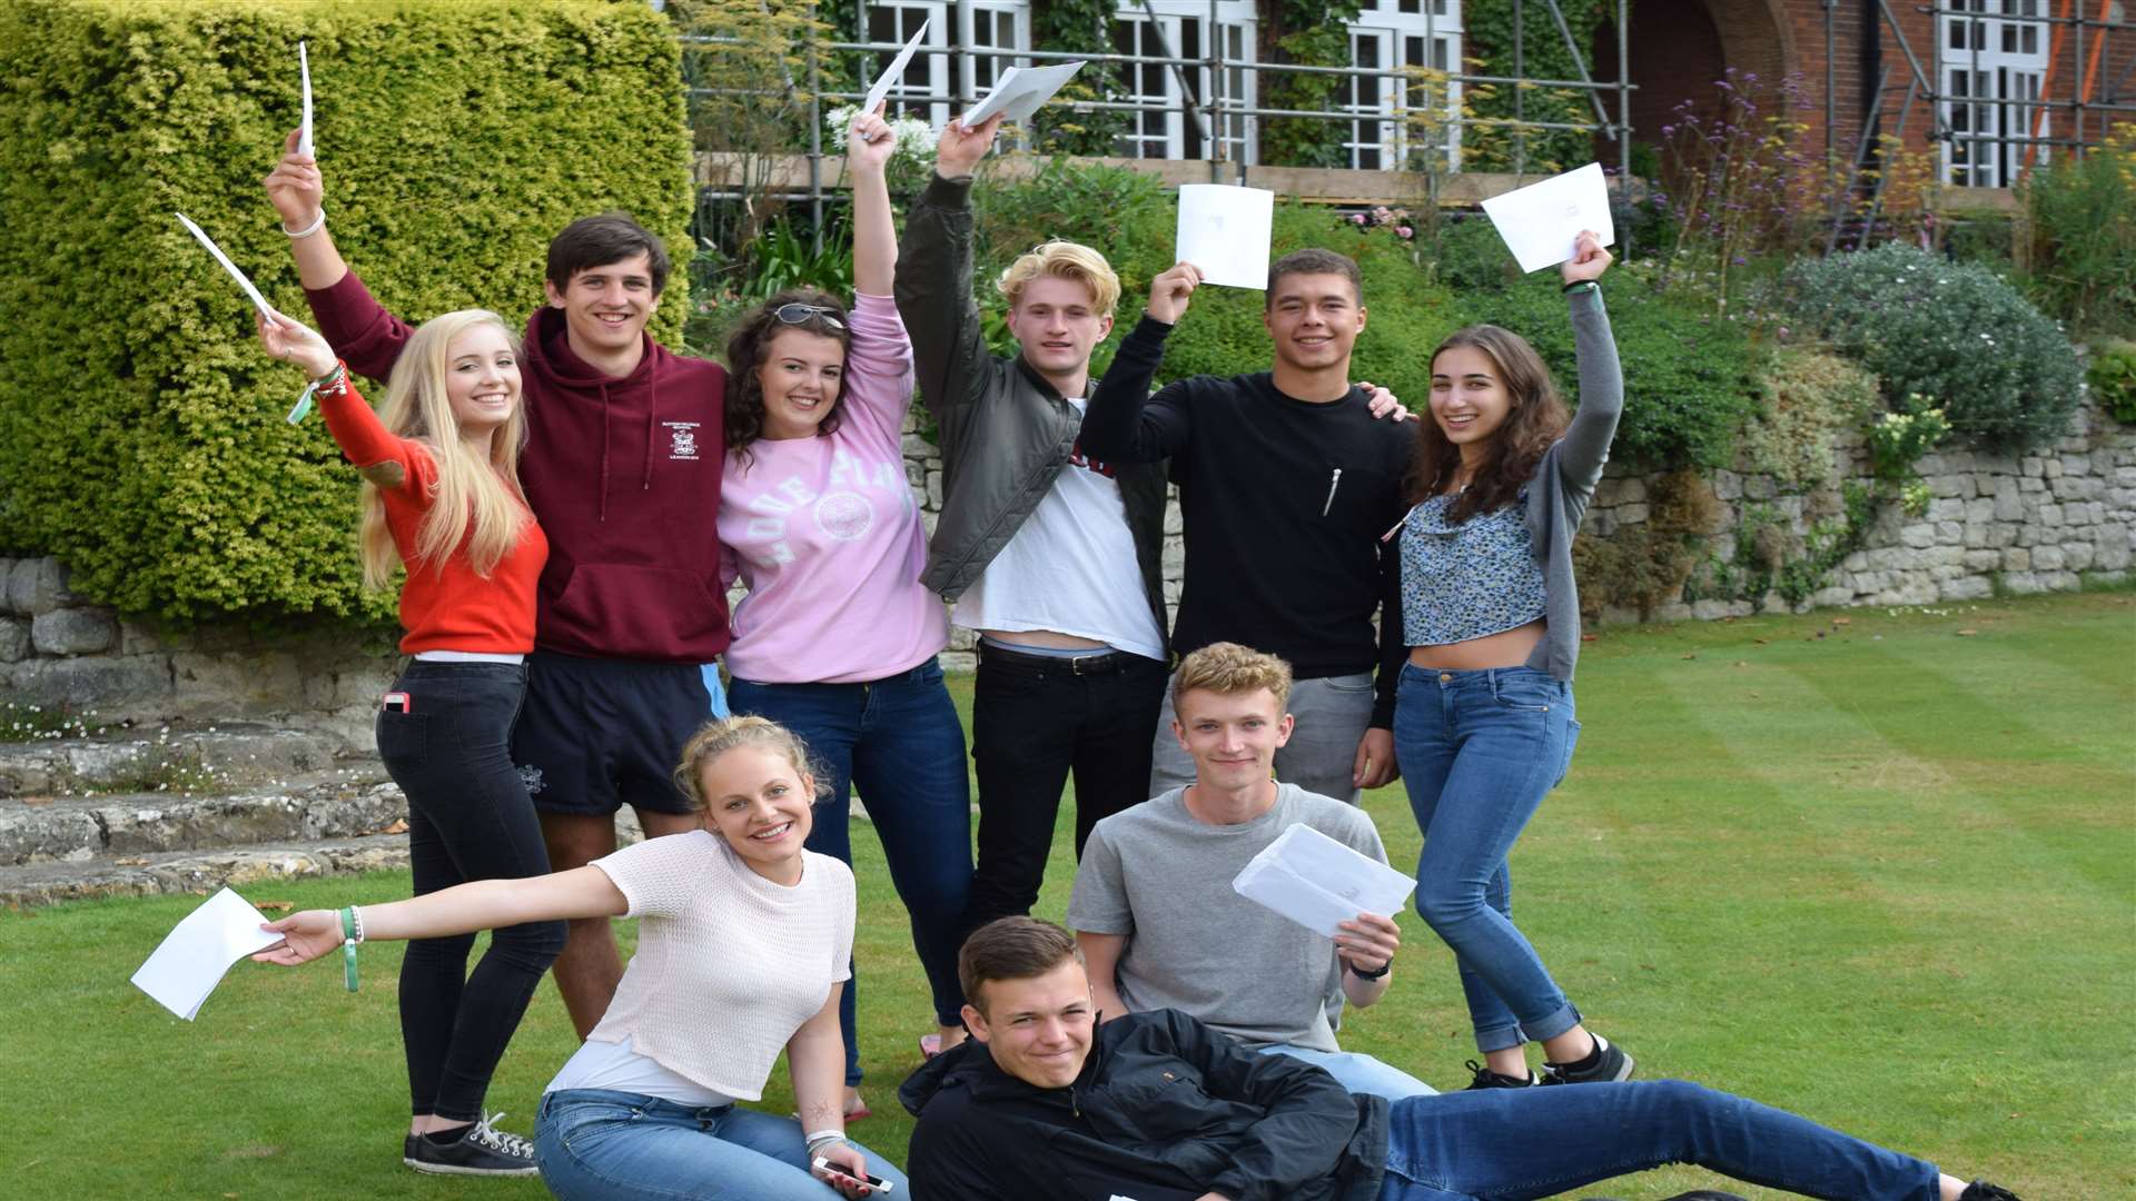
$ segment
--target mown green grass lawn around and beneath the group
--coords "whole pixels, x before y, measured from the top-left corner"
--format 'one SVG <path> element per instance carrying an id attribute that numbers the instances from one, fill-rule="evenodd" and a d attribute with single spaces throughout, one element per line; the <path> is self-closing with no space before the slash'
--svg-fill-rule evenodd
<path id="1" fill-rule="evenodd" d="M 1517 913 L 1640 1075 L 1745 1092 L 2031 1201 L 2136 1197 L 2136 596 L 1606 628 L 1579 705 L 1572 776 L 1514 853 Z M 1395 861 L 1414 859 L 1401 786 L 1367 806 Z M 893 1090 L 925 987 L 880 851 L 857 844 L 878 1116 L 854 1133 L 901 1158 Z M 1042 917 L 1070 874 L 1064 831 Z M 406 891 L 380 874 L 250 900 Z M 135 992 L 192 904 L 0 913 L 0 1195 L 540 1195 L 399 1167 L 395 945 L 363 951 L 357 996 L 331 964 L 239 964 L 188 1026 Z M 1344 1043 L 1457 1088 L 1474 1049 L 1452 966 L 1414 915 L 1403 930 L 1395 989 Z M 506 1128 L 532 1126 L 570 1049 L 545 987 L 491 1090 Z M 773 1077 L 765 1107 L 788 1103 Z M 1581 1195 L 1698 1184 L 1670 1169 Z"/>

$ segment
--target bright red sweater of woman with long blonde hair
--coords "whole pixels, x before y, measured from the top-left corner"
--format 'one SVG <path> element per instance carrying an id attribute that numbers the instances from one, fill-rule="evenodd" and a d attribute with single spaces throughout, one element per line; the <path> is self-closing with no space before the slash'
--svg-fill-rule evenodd
<path id="1" fill-rule="evenodd" d="M 438 464 L 429 449 L 412 438 L 395 438 L 387 432 L 372 406 L 357 393 L 355 380 L 342 376 L 346 385 L 318 393 L 318 408 L 327 417 L 327 430 L 342 444 L 342 453 L 359 468 L 378 464 L 399 464 L 397 485 L 380 485 L 387 502 L 387 528 L 393 530 L 393 545 L 408 564 L 408 583 L 402 586 L 402 652 L 423 650 L 468 650 L 487 654 L 525 654 L 534 650 L 534 583 L 549 562 L 549 539 L 525 513 L 519 526 L 519 541 L 504 551 L 489 577 L 474 573 L 466 545 L 453 549 L 451 558 L 438 564 L 417 562 L 417 534 L 423 515 L 429 513 L 429 494 L 438 483 Z"/>

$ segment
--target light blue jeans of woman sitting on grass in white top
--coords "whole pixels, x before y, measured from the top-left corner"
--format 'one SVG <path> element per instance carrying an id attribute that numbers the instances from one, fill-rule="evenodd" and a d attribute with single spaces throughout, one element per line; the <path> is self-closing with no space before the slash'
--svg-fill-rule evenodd
<path id="1" fill-rule="evenodd" d="M 867 1173 L 897 1184 L 891 1160 L 854 1143 Z M 534 1163 L 564 1201 L 728 1197 L 733 1201 L 833 1201 L 810 1175 L 801 1124 L 739 1105 L 694 1109 L 637 1092 L 570 1088 L 540 1098 Z"/>

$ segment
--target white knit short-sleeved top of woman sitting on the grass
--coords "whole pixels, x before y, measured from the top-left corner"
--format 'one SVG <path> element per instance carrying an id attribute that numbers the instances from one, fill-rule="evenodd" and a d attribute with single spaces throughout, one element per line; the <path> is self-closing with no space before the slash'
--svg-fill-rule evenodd
<path id="1" fill-rule="evenodd" d="M 852 957 L 852 868 L 801 853 L 801 883 L 775 885 L 724 838 L 647 838 L 594 865 L 630 902 L 639 953 L 587 1039 L 758 1101 L 786 1041 L 814 1017 Z"/>

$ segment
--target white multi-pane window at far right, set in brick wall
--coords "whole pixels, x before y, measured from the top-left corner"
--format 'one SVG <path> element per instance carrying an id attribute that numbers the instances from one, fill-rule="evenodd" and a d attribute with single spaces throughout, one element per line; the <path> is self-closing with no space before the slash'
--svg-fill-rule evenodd
<path id="1" fill-rule="evenodd" d="M 1942 15 L 1937 71 L 1944 81 L 1944 182 L 2008 188 L 2025 167 L 2031 137 L 2048 137 L 2046 109 L 2038 105 L 2046 77 L 2040 0 L 1950 0 Z M 2036 162 L 2046 160 L 2040 145 Z"/>

